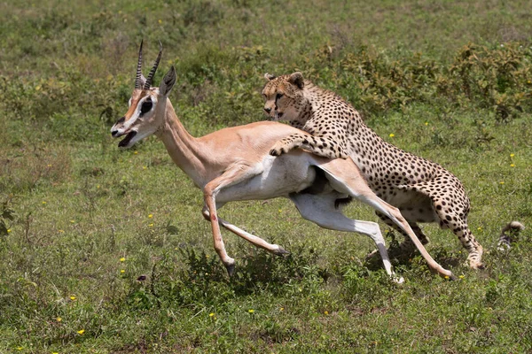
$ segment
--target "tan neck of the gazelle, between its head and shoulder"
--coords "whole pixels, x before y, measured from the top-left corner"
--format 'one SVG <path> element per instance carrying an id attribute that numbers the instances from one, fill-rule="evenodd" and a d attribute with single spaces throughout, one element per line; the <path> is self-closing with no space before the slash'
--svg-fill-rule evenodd
<path id="1" fill-rule="evenodd" d="M 168 99 L 164 122 L 157 136 L 164 143 L 174 163 L 191 177 L 198 187 L 203 187 L 209 178 L 207 169 L 213 158 L 213 151 L 209 151 L 205 143 L 186 131 Z"/>

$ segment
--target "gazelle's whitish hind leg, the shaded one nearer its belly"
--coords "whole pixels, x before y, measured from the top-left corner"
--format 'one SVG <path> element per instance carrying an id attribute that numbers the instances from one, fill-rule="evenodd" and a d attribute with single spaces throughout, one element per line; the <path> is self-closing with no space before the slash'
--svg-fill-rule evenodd
<path id="1" fill-rule="evenodd" d="M 313 221 L 320 227 L 325 227 L 331 230 L 356 232 L 370 236 L 373 242 L 377 245 L 386 273 L 394 278 L 392 266 L 387 256 L 384 237 L 380 234 L 379 225 L 372 221 L 349 219 L 338 209 L 335 209 L 334 202 L 337 197 L 338 195 L 336 193 L 327 195 L 293 193 L 290 195 L 290 199 L 293 201 L 293 204 L 295 204 L 297 210 L 301 213 L 301 216 L 304 219 Z M 403 282 L 403 278 L 400 278 L 397 281 Z"/>

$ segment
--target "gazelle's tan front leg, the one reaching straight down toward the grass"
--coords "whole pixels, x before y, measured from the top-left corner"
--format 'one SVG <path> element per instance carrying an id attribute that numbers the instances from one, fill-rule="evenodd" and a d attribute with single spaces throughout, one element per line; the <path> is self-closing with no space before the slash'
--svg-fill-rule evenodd
<path id="1" fill-rule="evenodd" d="M 210 214 L 211 227 L 213 229 L 215 250 L 230 276 L 235 271 L 235 260 L 227 255 L 225 245 L 223 244 L 222 233 L 220 232 L 220 224 L 216 212 L 216 195 L 221 189 L 237 184 L 241 181 L 246 181 L 247 179 L 252 178 L 261 172 L 262 171 L 260 169 L 254 169 L 249 165 L 233 165 L 221 176 L 218 176 L 213 181 L 208 182 L 203 189 L 203 196 Z"/>

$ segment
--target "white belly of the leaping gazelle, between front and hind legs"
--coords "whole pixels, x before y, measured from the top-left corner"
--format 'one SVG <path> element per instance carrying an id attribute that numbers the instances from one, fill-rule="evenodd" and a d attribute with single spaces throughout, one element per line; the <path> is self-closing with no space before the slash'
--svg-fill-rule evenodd
<path id="1" fill-rule="evenodd" d="M 262 173 L 222 189 L 216 196 L 216 202 L 271 199 L 306 189 L 316 178 L 316 171 L 309 160 L 304 153 L 288 153 L 277 158 L 267 155 L 257 165 Z"/>

